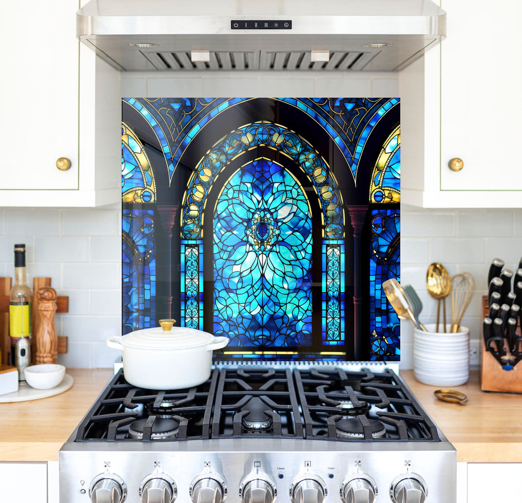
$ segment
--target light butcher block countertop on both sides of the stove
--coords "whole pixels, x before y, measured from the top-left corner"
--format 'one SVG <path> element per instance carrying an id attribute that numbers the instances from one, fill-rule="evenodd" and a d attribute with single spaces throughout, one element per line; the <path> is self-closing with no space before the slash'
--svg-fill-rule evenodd
<path id="1" fill-rule="evenodd" d="M 73 433 L 112 376 L 111 369 L 73 370 L 68 391 L 27 402 L 0 403 L 0 461 L 56 461 L 58 450 Z M 455 446 L 459 461 L 522 462 L 522 395 L 483 392 L 479 373 L 452 389 L 464 392 L 462 406 L 438 400 L 435 386 L 419 383 L 413 371 L 400 375 Z"/>

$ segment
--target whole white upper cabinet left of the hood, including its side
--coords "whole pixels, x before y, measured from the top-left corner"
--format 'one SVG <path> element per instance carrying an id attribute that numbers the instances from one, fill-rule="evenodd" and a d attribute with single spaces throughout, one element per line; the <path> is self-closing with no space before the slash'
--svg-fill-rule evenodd
<path id="1" fill-rule="evenodd" d="M 9 2 L 4 22 L 0 206 L 120 198 L 119 73 L 76 40 L 73 0 Z M 70 168 L 56 167 L 58 158 Z"/>

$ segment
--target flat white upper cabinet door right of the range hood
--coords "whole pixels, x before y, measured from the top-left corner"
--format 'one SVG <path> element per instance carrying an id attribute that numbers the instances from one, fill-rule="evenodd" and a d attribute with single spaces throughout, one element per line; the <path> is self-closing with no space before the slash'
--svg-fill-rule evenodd
<path id="1" fill-rule="evenodd" d="M 442 7 L 441 189 L 522 190 L 522 3 L 443 0 Z M 448 167 L 455 157 L 461 171 Z"/>

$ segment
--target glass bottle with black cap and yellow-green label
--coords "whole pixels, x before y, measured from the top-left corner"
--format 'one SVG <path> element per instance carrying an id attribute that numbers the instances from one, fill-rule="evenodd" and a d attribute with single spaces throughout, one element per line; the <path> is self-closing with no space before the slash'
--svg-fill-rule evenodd
<path id="1" fill-rule="evenodd" d="M 16 365 L 16 341 L 31 337 L 31 289 L 26 280 L 26 246 L 15 244 L 15 284 L 9 292 L 11 364 Z"/>

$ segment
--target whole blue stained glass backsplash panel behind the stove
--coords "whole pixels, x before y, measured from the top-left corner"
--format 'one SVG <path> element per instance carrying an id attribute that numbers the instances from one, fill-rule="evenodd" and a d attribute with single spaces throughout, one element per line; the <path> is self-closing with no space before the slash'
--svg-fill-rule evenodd
<path id="1" fill-rule="evenodd" d="M 400 359 L 397 98 L 122 100 L 123 334 L 219 359 Z"/>

